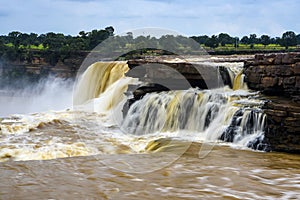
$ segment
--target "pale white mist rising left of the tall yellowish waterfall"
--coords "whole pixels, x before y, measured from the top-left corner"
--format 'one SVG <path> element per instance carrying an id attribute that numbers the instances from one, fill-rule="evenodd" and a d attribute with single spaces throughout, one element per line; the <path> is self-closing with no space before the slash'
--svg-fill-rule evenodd
<path id="1" fill-rule="evenodd" d="M 73 80 L 50 76 L 23 89 L 0 90 L 0 117 L 72 108 Z"/>

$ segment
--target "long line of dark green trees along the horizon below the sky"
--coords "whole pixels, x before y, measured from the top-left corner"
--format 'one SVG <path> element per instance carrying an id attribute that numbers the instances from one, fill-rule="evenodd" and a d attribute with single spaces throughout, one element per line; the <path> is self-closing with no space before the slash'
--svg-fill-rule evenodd
<path id="1" fill-rule="evenodd" d="M 30 62 L 35 54 L 39 54 L 50 64 L 55 65 L 58 60 L 63 61 L 73 52 L 90 51 L 104 40 L 112 38 L 112 36 L 114 36 L 114 28 L 112 26 L 90 32 L 80 31 L 77 36 L 53 32 L 38 35 L 36 33 L 28 34 L 13 31 L 8 35 L 0 36 L 0 59 L 4 61 L 27 60 Z M 287 31 L 281 37 L 274 38 L 268 35 L 258 37 L 256 34 L 250 34 L 240 39 L 227 33 L 212 36 L 192 36 L 190 38 L 199 43 L 199 46 L 210 49 L 228 45 L 237 49 L 241 45 L 248 45 L 250 49 L 253 49 L 256 44 L 262 44 L 265 47 L 269 44 L 274 44 L 288 49 L 291 46 L 300 45 L 300 34 L 296 35 L 293 31 Z M 174 44 L 174 41 L 176 44 Z M 112 49 L 116 45 L 118 48 L 128 48 L 130 46 L 133 49 L 140 49 L 149 42 L 162 44 L 169 48 L 174 48 L 180 43 L 181 49 L 195 45 L 190 42 L 189 38 L 184 36 L 164 35 L 160 38 L 150 36 L 134 38 L 131 32 L 125 36 L 115 36 L 110 42 L 111 44 L 109 45 L 112 46 Z M 158 45 L 157 47 L 160 46 Z"/>

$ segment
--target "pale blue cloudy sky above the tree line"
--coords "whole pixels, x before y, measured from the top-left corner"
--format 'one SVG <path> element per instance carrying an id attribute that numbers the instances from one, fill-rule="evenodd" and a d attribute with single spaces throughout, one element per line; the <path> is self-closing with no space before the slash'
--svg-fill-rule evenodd
<path id="1" fill-rule="evenodd" d="M 157 27 L 181 35 L 300 33 L 299 0 L 1 0 L 0 35 L 113 26 L 116 34 Z"/>

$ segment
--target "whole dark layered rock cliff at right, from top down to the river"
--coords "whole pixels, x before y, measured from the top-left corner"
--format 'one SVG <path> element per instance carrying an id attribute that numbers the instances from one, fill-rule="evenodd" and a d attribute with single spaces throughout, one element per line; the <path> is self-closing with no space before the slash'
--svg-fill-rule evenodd
<path id="1" fill-rule="evenodd" d="M 299 153 L 300 53 L 256 55 L 245 62 L 244 73 L 250 89 L 272 95 L 264 106 L 271 149 Z"/>

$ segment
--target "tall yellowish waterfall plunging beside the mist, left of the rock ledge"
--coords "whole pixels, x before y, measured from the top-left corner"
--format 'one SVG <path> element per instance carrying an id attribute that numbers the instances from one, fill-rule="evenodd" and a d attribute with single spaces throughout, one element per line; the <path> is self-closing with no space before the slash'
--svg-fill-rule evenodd
<path id="1" fill-rule="evenodd" d="M 126 100 L 124 93 L 135 78 L 126 77 L 126 62 L 96 62 L 79 78 L 74 91 L 73 105 L 76 109 L 97 113 L 113 112 L 120 102 Z"/>

